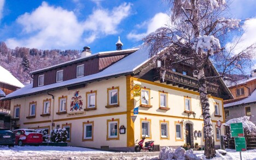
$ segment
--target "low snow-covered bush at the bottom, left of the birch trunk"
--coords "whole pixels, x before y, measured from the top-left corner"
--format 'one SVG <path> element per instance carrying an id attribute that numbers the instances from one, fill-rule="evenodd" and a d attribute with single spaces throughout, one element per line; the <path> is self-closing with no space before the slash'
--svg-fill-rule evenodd
<path id="1" fill-rule="evenodd" d="M 182 147 L 178 147 L 178 149 L 173 150 L 171 147 L 163 147 L 162 150 L 159 152 L 159 159 L 160 160 L 172 160 L 172 159 L 179 159 L 179 160 L 200 160 L 201 157 L 197 157 L 193 150 L 188 150 L 187 152 Z"/>

